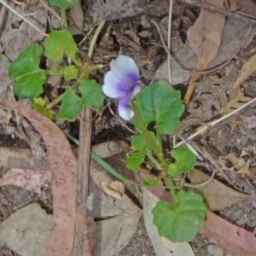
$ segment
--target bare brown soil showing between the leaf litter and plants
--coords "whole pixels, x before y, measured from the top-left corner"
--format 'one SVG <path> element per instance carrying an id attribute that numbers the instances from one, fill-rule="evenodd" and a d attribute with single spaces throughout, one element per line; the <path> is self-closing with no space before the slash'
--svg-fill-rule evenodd
<path id="1" fill-rule="evenodd" d="M 103 65 L 108 65 L 111 58 L 118 55 L 120 52 L 122 55 L 129 55 L 137 62 L 139 66 L 143 84 L 150 84 L 155 71 L 164 61 L 166 61 L 167 57 L 165 50 L 158 46 L 158 44 L 160 44 L 160 36 L 155 26 L 150 22 L 150 19 L 154 18 L 154 20 L 157 20 L 163 25 L 164 30 L 167 30 L 167 27 L 164 27 L 166 16 L 168 15 L 167 2 L 168 1 L 164 0 L 148 1 L 148 6 L 150 7 L 148 7 L 148 13 L 108 21 L 96 47 L 94 59 L 97 61 L 97 63 L 100 62 Z M 179 1 L 174 1 L 172 15 L 172 38 L 179 37 L 179 42 L 184 42 L 186 30 L 189 26 L 193 25 L 195 21 L 193 20 L 193 17 L 196 19 L 199 14 L 198 8 L 187 8 L 187 13 L 185 12 L 183 15 L 181 15 L 182 8 L 183 5 L 181 5 Z M 9 15 L 14 14 L 9 13 Z M 177 22 L 179 22 L 179 25 L 177 25 Z M 47 29 L 49 29 L 49 27 L 47 27 Z M 2 31 L 4 31 L 4 26 L 2 27 Z M 109 31 L 111 31 L 111 33 Z M 81 38 L 82 36 L 75 36 L 75 39 L 78 42 Z M 152 42 L 154 44 L 151 44 Z M 248 46 L 247 50 L 250 50 L 249 48 L 250 47 Z M 84 51 L 88 49 L 88 42 L 82 44 L 81 49 Z M 253 49 L 253 44 L 251 49 Z M 241 63 L 242 58 L 247 58 L 246 50 L 242 51 L 242 54 L 239 55 L 239 58 L 237 58 L 236 64 L 239 61 Z M 104 56 L 107 57 L 104 58 Z M 95 73 L 94 79 L 98 80 L 99 83 L 102 83 L 103 74 L 105 72 L 106 70 L 102 70 Z M 187 85 L 188 81 L 183 84 L 179 84 L 177 87 L 179 87 L 184 93 L 184 91 L 187 89 Z M 246 96 L 252 98 L 256 96 L 256 90 L 254 89 L 255 86 L 253 85 L 255 85 L 253 79 L 249 80 L 247 84 L 242 84 L 242 90 Z M 2 95 L 0 95 L 0 97 L 6 97 L 8 90 L 1 91 Z M 49 98 L 53 96 L 52 92 L 52 90 L 49 90 Z M 61 89 L 57 93 L 61 93 Z M 198 104 L 196 92 L 192 96 L 191 102 Z M 116 113 L 116 102 L 110 101 L 110 106 L 113 108 L 113 113 Z M 216 109 L 214 110 L 216 111 Z M 123 125 L 123 123 L 120 123 L 119 119 L 117 119 L 117 114 L 113 115 L 113 113 L 111 113 L 109 108 L 104 108 L 102 113 L 96 116 L 93 124 L 92 143 L 102 143 L 110 139 L 122 139 L 126 142 L 131 141 L 132 132 L 128 131 L 127 127 L 133 129 L 132 123 L 125 123 L 127 126 L 126 127 Z M 256 158 L 254 156 L 253 149 L 256 146 L 256 141 L 254 139 L 256 124 L 254 125 L 254 119 L 252 119 L 254 113 L 255 104 L 243 109 L 241 113 L 236 114 L 232 117 L 232 119 L 228 119 L 216 125 L 212 130 L 207 131 L 207 134 L 205 134 L 203 137 L 195 140 L 195 142 L 199 143 L 201 146 L 206 146 L 216 160 L 218 160 L 221 156 L 226 156 L 227 154 L 231 153 L 234 153 L 236 157 L 240 157 L 241 153 L 244 150 L 247 150 L 247 154 L 244 156 L 244 159 L 249 163 L 248 172 L 237 174 L 237 176 L 247 180 L 247 182 L 250 183 L 253 188 L 256 186 L 254 181 L 256 174 L 253 173 L 253 170 L 256 167 Z M 189 113 L 184 114 L 183 119 L 187 118 L 186 115 L 189 116 Z M 251 122 L 251 128 L 248 128 L 248 123 L 245 121 L 245 119 L 248 120 L 248 118 Z M 13 120 L 13 125 L 15 125 L 15 120 Z M 64 125 L 74 137 L 78 137 L 78 120 L 70 125 L 61 122 L 59 125 Z M 199 125 L 200 124 L 197 124 L 197 126 Z M 185 137 L 189 135 L 189 131 L 191 131 L 192 128 L 195 128 L 195 124 L 183 131 L 183 135 Z M 14 133 L 13 131 L 6 131 L 3 118 L 1 125 L 0 146 L 23 148 L 29 147 L 24 140 L 20 140 L 17 133 Z M 170 148 L 166 148 L 166 150 L 168 149 Z M 203 157 L 203 162 L 207 163 L 207 170 L 204 167 L 201 167 L 201 170 L 207 171 L 208 174 L 211 174 L 215 167 L 205 157 Z M 232 166 L 232 163 L 227 160 L 227 165 L 229 164 Z M 2 168 L 0 177 L 2 177 L 6 171 L 6 169 Z M 228 183 L 225 180 L 225 177 L 220 173 L 218 173 L 216 178 L 222 183 L 231 187 L 230 183 Z M 234 183 L 236 182 L 234 181 Z M 236 185 L 239 186 L 239 184 Z M 29 192 L 26 189 L 20 189 L 15 186 L 8 185 L 0 187 L 0 222 L 3 222 L 4 219 L 9 218 L 13 212 L 17 211 L 21 207 L 34 202 L 38 202 L 38 204 L 40 204 L 46 212 L 52 213 L 52 196 L 50 187 L 44 188 L 43 197 L 38 196 L 36 193 Z M 236 204 L 230 207 L 225 207 L 224 209 L 221 209 L 215 213 L 221 218 L 228 220 L 230 223 L 236 224 L 236 226 L 253 232 L 254 228 L 256 227 L 255 208 L 256 204 L 253 202 L 253 200 L 238 201 Z M 218 247 L 218 241 L 214 240 L 214 238 L 207 239 L 200 234 L 195 236 L 195 240 L 191 241 L 190 245 L 193 248 L 196 256 L 232 256 L 232 254 Z M 9 250 L 8 247 L 0 248 L 0 256 L 2 255 L 19 256 L 17 253 Z M 115 256 L 131 255 L 155 255 L 154 248 L 148 238 L 147 230 L 143 224 L 143 217 L 141 218 L 138 224 L 137 232 L 131 239 L 130 243 L 127 244 L 119 253 L 115 254 Z"/>

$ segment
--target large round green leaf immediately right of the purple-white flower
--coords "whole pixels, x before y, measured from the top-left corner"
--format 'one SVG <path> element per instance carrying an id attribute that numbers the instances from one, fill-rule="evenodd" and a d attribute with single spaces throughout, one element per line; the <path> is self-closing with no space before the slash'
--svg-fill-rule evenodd
<path id="1" fill-rule="evenodd" d="M 160 80 L 141 90 L 136 105 L 145 125 L 155 122 L 160 134 L 172 134 L 183 113 L 184 106 L 180 91 L 174 90 L 170 84 Z M 143 131 L 137 117 L 134 117 L 137 131 Z"/>

